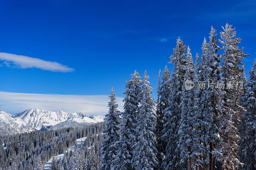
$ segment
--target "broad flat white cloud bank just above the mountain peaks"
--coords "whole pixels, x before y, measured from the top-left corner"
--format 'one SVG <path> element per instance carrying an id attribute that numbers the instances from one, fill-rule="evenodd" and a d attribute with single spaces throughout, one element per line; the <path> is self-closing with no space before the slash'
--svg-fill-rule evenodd
<path id="1" fill-rule="evenodd" d="M 16 114 L 28 108 L 73 113 L 83 111 L 88 115 L 108 113 L 108 95 L 62 95 L 0 92 L 0 110 Z M 123 111 L 123 98 L 117 97 L 118 110 Z"/>

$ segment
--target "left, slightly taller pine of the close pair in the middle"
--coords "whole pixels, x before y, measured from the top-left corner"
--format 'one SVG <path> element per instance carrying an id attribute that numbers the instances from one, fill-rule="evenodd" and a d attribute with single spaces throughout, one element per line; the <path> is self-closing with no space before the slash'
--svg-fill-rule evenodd
<path id="1" fill-rule="evenodd" d="M 118 150 L 115 159 L 113 160 L 113 168 L 115 170 L 129 170 L 132 169 L 131 160 L 133 155 L 132 146 L 137 141 L 136 139 L 136 116 L 139 105 L 138 96 L 140 90 L 140 75 L 135 70 L 134 74 L 131 74 L 132 80 L 127 80 L 125 85 L 125 98 L 124 98 L 124 112 L 123 119 L 120 123 L 120 144 L 121 147 Z"/>

